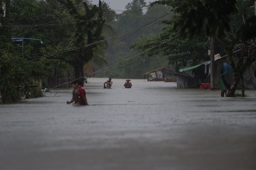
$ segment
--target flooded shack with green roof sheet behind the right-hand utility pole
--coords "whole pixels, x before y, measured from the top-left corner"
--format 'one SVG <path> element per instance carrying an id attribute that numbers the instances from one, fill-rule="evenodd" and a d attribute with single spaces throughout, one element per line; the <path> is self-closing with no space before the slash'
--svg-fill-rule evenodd
<path id="1" fill-rule="evenodd" d="M 211 62 L 206 61 L 192 67 L 180 69 L 175 73 L 177 88 L 210 88 L 210 67 Z M 215 88 L 228 89 L 232 84 L 233 69 L 228 64 L 226 57 L 215 58 Z M 244 74 L 244 86 L 246 89 L 256 89 L 256 62 L 253 62 Z M 237 89 L 242 88 L 239 82 Z"/>

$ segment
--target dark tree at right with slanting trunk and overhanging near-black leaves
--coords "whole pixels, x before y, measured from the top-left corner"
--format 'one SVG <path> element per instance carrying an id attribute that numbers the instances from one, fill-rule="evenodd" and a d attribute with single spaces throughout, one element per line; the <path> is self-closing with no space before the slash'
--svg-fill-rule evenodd
<path id="1" fill-rule="evenodd" d="M 174 20 L 166 21 L 166 23 L 170 25 L 173 24 L 173 31 L 178 31 L 183 38 L 192 39 L 195 36 L 209 36 L 211 38 L 217 38 L 218 41 L 221 42 L 225 38 L 228 39 L 227 35 L 235 35 L 225 43 L 222 43 L 226 47 L 225 51 L 228 51 L 228 60 L 233 63 L 232 67 L 234 67 L 234 79 L 228 96 L 234 96 L 236 85 L 242 78 L 241 74 L 244 73 L 244 70 L 250 65 L 249 62 L 255 61 L 255 43 L 252 41 L 255 39 L 256 33 L 255 16 L 250 15 L 248 17 L 247 15 L 247 17 L 245 17 L 246 15 L 240 15 L 239 20 L 232 20 L 232 22 L 235 22 L 239 27 L 232 27 L 230 17 L 233 14 L 237 15 L 236 5 L 238 3 L 249 3 L 247 9 L 253 7 L 253 0 L 223 0 L 221 3 L 218 0 L 185 0 L 182 2 L 163 0 L 151 4 L 173 5 L 174 12 L 177 15 L 174 17 Z M 241 25 L 239 23 L 243 24 Z M 246 43 L 245 46 L 241 46 L 244 53 L 240 54 L 247 52 L 247 55 L 243 55 L 242 58 L 243 60 L 246 58 L 248 62 L 235 64 L 233 50 L 236 49 L 237 45 L 240 43 Z M 249 48 L 245 50 L 245 47 Z"/>

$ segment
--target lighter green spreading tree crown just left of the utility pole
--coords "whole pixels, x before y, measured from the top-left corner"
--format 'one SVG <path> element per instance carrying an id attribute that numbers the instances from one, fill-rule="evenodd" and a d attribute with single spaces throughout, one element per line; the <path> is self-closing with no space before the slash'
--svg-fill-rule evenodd
<path id="1" fill-rule="evenodd" d="M 173 33 L 171 26 L 163 27 L 162 33 L 157 37 L 144 37 L 130 48 L 145 51 L 149 56 L 168 56 L 169 63 L 176 66 L 176 70 L 187 64 L 195 65 L 207 59 L 207 39 L 195 37 L 191 40 L 183 39 Z"/>

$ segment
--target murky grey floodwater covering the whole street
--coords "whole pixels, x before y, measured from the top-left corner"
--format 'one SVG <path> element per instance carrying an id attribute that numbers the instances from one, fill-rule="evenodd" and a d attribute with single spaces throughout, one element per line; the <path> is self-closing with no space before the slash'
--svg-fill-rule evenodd
<path id="1" fill-rule="evenodd" d="M 103 78 L 0 105 L 0 170 L 255 170 L 256 91 L 177 89 L 173 82 Z M 240 92 L 240 91 L 238 91 Z"/>

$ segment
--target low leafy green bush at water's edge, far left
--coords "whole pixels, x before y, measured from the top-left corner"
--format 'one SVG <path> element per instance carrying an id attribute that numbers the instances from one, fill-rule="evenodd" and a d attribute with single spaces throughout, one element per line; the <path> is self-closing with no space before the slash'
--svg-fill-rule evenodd
<path id="1" fill-rule="evenodd" d="M 36 79 L 47 70 L 41 62 L 28 62 L 27 60 L 10 55 L 1 50 L 0 53 L 0 84 L 3 102 L 17 101 L 22 86 L 37 86 Z M 41 88 L 29 88 L 30 97 L 42 96 Z"/>

